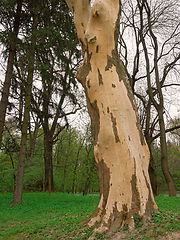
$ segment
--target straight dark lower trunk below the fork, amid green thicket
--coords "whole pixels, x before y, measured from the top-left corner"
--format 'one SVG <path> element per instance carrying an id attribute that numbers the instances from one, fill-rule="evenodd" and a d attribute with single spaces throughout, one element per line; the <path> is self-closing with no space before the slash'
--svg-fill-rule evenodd
<path id="1" fill-rule="evenodd" d="M 44 131 L 44 162 L 45 162 L 45 192 L 54 192 L 53 164 L 52 164 L 53 142 L 49 131 Z"/>

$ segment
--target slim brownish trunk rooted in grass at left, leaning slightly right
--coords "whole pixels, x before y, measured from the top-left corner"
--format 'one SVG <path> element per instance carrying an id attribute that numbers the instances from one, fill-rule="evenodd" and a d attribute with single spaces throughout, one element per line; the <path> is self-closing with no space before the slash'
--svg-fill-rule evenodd
<path id="1" fill-rule="evenodd" d="M 27 76 L 27 83 L 26 83 L 25 108 L 24 108 L 23 125 L 22 125 L 22 132 L 21 132 L 21 145 L 20 145 L 20 152 L 19 152 L 16 188 L 14 191 L 14 198 L 11 204 L 12 206 L 17 203 L 22 203 L 24 164 L 25 164 L 25 154 L 26 154 L 29 111 L 30 111 L 30 103 L 31 103 L 31 88 L 32 88 L 33 71 L 34 71 L 34 56 L 35 56 L 35 47 L 36 47 L 37 24 L 38 24 L 38 9 L 36 8 L 33 16 L 31 49 L 29 51 L 28 76 Z"/>

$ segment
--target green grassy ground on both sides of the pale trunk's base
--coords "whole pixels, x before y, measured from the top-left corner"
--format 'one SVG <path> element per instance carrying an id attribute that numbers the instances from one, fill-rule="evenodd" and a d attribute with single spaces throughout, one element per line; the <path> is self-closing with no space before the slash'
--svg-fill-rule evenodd
<path id="1" fill-rule="evenodd" d="M 24 193 L 23 204 L 12 207 L 12 194 L 0 194 L 0 239 L 88 239 L 91 229 L 79 225 L 96 208 L 99 195 Z M 161 213 L 154 213 L 143 226 L 136 218 L 136 231 L 123 229 L 125 239 L 161 239 L 180 230 L 180 197 L 156 198 Z M 117 229 L 118 232 L 118 229 Z M 111 238 L 97 234 L 96 239 Z"/>

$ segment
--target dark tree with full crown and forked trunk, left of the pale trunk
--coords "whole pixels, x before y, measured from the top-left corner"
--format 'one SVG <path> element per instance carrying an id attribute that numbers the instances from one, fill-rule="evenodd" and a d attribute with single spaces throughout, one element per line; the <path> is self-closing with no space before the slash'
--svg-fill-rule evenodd
<path id="1" fill-rule="evenodd" d="M 51 16 L 47 19 L 47 15 Z M 72 17 L 64 2 L 47 3 L 41 14 L 37 44 L 37 68 L 42 86 L 34 87 L 32 109 L 41 121 L 44 131 L 45 191 L 54 191 L 53 145 L 68 116 L 81 109 L 75 97 L 78 87 L 75 71 L 80 52 L 72 27 Z M 63 33 L 63 34 L 61 34 Z M 66 36 L 64 38 L 64 36 Z M 63 123 L 62 119 L 64 120 Z"/>

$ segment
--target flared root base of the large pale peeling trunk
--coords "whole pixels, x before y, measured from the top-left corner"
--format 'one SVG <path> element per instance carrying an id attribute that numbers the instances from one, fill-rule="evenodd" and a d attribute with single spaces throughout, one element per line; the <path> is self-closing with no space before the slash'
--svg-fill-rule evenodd
<path id="1" fill-rule="evenodd" d="M 103 195 L 101 195 L 100 202 L 96 210 L 89 218 L 81 223 L 81 225 L 86 224 L 86 226 L 90 228 L 95 227 L 94 234 L 112 234 L 115 230 L 118 229 L 120 231 L 124 227 L 128 227 L 130 231 L 133 231 L 135 229 L 136 219 L 145 224 L 147 219 L 151 219 L 152 212 L 159 211 L 151 193 L 149 193 L 146 203 L 144 203 L 143 197 L 141 197 L 141 199 L 133 199 L 132 196 L 131 209 L 127 209 L 127 205 L 120 202 L 110 204 L 111 201 L 109 198 L 111 197 L 109 196 L 108 200 L 104 201 Z M 144 204 L 146 204 L 145 211 L 142 212 L 141 207 L 143 208 Z M 119 206 L 122 206 L 121 211 L 119 211 Z M 90 239 L 93 239 L 93 236 Z"/>

